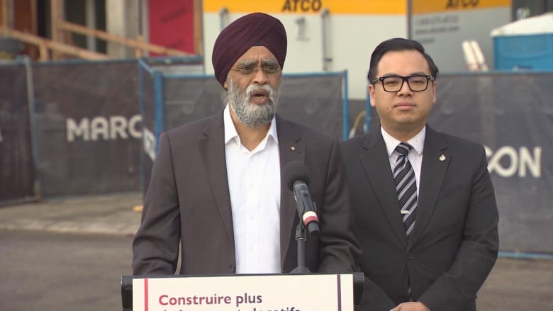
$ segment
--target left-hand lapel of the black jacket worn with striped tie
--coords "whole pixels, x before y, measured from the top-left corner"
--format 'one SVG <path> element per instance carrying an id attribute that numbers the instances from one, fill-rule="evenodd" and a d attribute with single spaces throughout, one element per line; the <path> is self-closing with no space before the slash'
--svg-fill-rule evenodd
<path id="1" fill-rule="evenodd" d="M 399 213 L 396 186 L 393 183 L 386 144 L 380 131 L 367 136 L 363 143 L 363 152 L 359 154 L 359 159 L 367 173 L 369 183 L 374 189 L 379 207 L 384 211 L 398 239 L 402 244 L 407 245 L 405 228 Z"/>

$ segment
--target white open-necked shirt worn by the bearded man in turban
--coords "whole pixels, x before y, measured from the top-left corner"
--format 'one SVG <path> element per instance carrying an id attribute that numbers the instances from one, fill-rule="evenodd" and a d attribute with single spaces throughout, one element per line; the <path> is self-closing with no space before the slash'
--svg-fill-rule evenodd
<path id="1" fill-rule="evenodd" d="M 223 113 L 228 191 L 233 211 L 236 273 L 281 273 L 280 157 L 277 125 L 248 150 Z"/>

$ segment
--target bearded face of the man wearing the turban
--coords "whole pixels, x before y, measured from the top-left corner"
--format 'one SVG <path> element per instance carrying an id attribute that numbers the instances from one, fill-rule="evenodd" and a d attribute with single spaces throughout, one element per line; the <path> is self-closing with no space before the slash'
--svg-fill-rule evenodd
<path id="1" fill-rule="evenodd" d="M 247 50 L 233 64 L 224 84 L 238 120 L 249 126 L 271 122 L 277 111 L 281 79 L 279 63 L 267 47 Z"/>

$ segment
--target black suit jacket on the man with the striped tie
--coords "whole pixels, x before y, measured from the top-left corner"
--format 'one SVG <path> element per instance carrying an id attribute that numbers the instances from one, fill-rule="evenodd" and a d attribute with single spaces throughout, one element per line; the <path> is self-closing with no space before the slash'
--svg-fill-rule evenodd
<path id="1" fill-rule="evenodd" d="M 342 142 L 361 242 L 361 310 L 413 300 L 432 311 L 476 310 L 498 254 L 498 210 L 484 148 L 427 126 L 416 225 L 406 237 L 380 130 Z M 443 157 L 442 157 L 443 156 Z"/>

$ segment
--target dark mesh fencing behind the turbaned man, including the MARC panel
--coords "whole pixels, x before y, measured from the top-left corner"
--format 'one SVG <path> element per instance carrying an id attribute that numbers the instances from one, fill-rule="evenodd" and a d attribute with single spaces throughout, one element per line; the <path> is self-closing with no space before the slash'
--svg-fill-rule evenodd
<path id="1" fill-rule="evenodd" d="M 0 63 L 0 204 L 145 189 L 152 135 L 223 108 L 200 61 Z M 279 112 L 342 138 L 346 74 L 285 75 Z"/>

